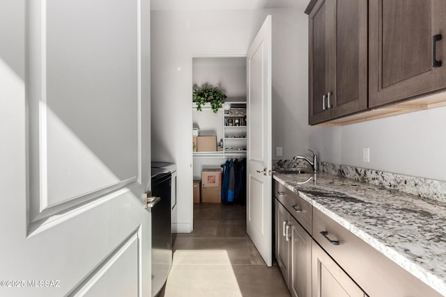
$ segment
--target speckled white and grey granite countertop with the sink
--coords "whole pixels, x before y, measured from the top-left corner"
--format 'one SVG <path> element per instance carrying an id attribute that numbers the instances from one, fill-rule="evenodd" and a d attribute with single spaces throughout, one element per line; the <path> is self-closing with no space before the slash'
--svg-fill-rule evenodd
<path id="1" fill-rule="evenodd" d="M 274 179 L 446 296 L 445 202 L 327 173 Z"/>

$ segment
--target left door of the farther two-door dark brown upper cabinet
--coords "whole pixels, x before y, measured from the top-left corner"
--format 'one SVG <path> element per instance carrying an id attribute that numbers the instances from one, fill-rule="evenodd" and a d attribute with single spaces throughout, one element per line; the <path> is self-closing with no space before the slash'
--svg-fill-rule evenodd
<path id="1" fill-rule="evenodd" d="M 320 0 L 309 14 L 309 124 L 328 120 L 325 95 L 330 88 L 332 0 Z"/>

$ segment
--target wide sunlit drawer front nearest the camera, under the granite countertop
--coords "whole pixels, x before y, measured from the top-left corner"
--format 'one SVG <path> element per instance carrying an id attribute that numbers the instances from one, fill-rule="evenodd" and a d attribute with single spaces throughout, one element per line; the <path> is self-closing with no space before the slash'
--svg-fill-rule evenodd
<path id="1" fill-rule="evenodd" d="M 371 297 L 441 296 L 316 208 L 313 239 Z"/>

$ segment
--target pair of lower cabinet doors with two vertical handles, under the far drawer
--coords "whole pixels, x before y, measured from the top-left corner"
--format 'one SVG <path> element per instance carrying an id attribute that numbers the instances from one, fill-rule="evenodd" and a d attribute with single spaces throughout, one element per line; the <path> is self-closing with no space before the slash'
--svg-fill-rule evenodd
<path id="1" fill-rule="evenodd" d="M 291 296 L 312 295 L 312 237 L 275 200 L 276 259 Z"/>

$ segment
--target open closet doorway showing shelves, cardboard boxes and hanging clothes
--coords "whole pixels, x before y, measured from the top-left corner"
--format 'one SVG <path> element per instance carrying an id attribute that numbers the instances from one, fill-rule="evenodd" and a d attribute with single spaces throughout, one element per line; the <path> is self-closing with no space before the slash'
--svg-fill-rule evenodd
<path id="1" fill-rule="evenodd" d="M 246 219 L 247 65 L 246 56 L 192 58 L 192 89 L 208 86 L 226 94 L 216 113 L 210 104 L 192 104 L 193 229 L 210 227 L 203 212 L 215 220 Z M 218 207 L 215 203 L 222 204 Z M 243 217 L 240 217 L 243 215 Z M 207 224 L 199 226 L 197 224 Z M 227 225 L 227 224 L 226 224 Z M 215 226 L 217 227 L 217 226 Z"/>

